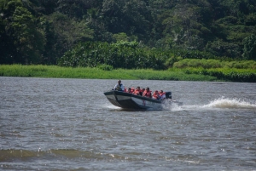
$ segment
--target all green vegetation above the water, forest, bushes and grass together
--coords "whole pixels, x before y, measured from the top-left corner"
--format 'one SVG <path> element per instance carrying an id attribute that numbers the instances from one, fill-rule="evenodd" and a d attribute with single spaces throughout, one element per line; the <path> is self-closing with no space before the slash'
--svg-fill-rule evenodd
<path id="1" fill-rule="evenodd" d="M 1 76 L 255 82 L 255 7 L 255 0 L 0 0 Z M 13 64 L 49 66 L 3 66 Z"/>

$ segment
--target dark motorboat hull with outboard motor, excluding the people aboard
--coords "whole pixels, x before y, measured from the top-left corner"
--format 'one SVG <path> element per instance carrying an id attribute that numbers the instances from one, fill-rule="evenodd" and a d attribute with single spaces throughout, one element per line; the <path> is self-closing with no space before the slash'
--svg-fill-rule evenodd
<path id="1" fill-rule="evenodd" d="M 165 104 L 172 105 L 175 103 L 177 105 L 183 105 L 182 102 L 172 100 L 172 92 L 166 92 L 166 98 L 164 100 L 154 100 L 141 95 L 116 90 L 111 90 L 104 94 L 110 103 L 123 109 L 162 110 Z"/>

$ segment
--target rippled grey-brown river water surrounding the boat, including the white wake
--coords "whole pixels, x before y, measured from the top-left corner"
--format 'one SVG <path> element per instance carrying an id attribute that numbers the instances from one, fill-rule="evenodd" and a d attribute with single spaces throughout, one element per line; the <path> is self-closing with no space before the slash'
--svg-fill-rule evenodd
<path id="1" fill-rule="evenodd" d="M 123 80 L 183 106 L 125 111 L 117 80 L 0 77 L 0 170 L 256 170 L 256 84 Z"/>

